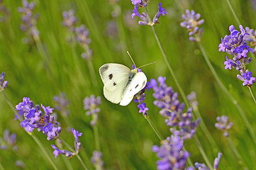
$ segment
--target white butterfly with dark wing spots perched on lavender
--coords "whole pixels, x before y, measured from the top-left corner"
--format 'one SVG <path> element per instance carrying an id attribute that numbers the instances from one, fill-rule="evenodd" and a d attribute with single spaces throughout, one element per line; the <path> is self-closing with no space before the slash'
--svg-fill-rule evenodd
<path id="1" fill-rule="evenodd" d="M 104 83 L 105 98 L 121 106 L 128 105 L 147 83 L 143 72 L 138 72 L 138 69 L 130 70 L 122 64 L 104 64 L 99 68 L 99 74 Z"/>

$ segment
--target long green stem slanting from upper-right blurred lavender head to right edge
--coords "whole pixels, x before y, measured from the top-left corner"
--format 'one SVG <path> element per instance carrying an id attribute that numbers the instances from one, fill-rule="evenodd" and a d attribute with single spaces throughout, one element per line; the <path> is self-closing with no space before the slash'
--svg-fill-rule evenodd
<path id="1" fill-rule="evenodd" d="M 221 79 L 218 77 L 217 73 L 215 72 L 215 69 L 213 68 L 211 62 L 208 60 L 208 56 L 206 55 L 206 52 L 204 51 L 204 47 L 201 45 L 201 42 L 199 42 L 199 48 L 204 56 L 204 59 L 206 60 L 206 63 L 208 64 L 208 67 L 211 70 L 211 73 L 213 74 L 213 77 L 216 79 L 217 83 L 219 84 L 219 86 L 221 86 L 221 89 L 226 93 L 228 98 L 230 98 L 230 101 L 232 101 L 233 104 L 235 105 L 235 107 L 238 109 L 238 112 L 240 113 L 240 116 L 243 118 L 243 121 L 245 122 L 245 125 L 250 132 L 252 140 L 256 145 L 255 132 L 253 131 L 252 126 L 250 125 L 249 121 L 247 120 L 245 113 L 243 112 L 243 109 L 240 107 L 238 101 L 236 101 L 235 98 L 233 98 L 233 96 L 229 93 L 228 89 L 226 89 L 224 84 L 221 82 Z"/>

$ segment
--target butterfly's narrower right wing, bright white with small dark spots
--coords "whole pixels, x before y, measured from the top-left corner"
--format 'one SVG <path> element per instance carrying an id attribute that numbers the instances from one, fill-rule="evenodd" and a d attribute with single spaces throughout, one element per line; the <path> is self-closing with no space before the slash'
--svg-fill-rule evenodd
<path id="1" fill-rule="evenodd" d="M 122 99 L 119 103 L 121 106 L 126 106 L 133 100 L 133 96 L 141 91 L 147 84 L 147 77 L 143 72 L 138 72 L 135 74 L 133 79 L 126 84 L 125 89 L 123 89 Z"/>

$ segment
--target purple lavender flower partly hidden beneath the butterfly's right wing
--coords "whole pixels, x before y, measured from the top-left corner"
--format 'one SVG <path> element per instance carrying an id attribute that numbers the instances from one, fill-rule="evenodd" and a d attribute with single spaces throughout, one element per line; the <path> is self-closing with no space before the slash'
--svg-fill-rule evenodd
<path id="1" fill-rule="evenodd" d="M 138 69 L 138 72 L 140 72 L 140 71 Z M 139 113 L 143 113 L 144 116 L 148 115 L 148 113 L 147 113 L 148 108 L 146 107 L 146 103 L 143 103 L 143 101 L 146 97 L 145 89 L 148 89 L 148 91 L 150 89 L 152 89 L 152 86 L 151 86 L 150 82 L 147 82 L 146 86 L 138 94 L 135 94 L 135 99 L 134 99 L 135 103 L 139 103 L 138 104 L 138 108 L 140 108 Z"/>

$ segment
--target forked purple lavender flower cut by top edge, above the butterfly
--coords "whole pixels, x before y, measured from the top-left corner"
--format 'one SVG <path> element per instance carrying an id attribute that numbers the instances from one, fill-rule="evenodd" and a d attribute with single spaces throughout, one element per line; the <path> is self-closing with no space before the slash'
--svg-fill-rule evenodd
<path id="1" fill-rule="evenodd" d="M 150 21 L 150 19 L 148 18 L 145 12 L 141 13 L 141 15 L 138 12 L 138 8 L 146 7 L 148 5 L 148 1 L 142 1 L 142 0 L 131 0 L 131 1 L 132 1 L 132 4 L 134 5 L 132 18 L 134 16 L 138 16 L 141 19 L 141 21 L 138 22 L 140 25 L 153 26 L 156 23 L 158 23 L 157 21 L 161 15 L 165 16 L 165 13 L 167 13 L 167 11 L 165 11 L 165 8 L 162 8 L 162 3 L 160 2 L 158 4 L 158 11 L 155 14 L 155 17 L 153 18 L 152 21 Z"/>

